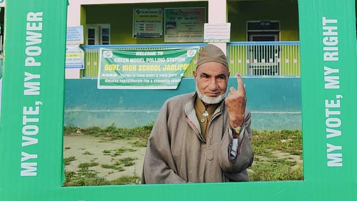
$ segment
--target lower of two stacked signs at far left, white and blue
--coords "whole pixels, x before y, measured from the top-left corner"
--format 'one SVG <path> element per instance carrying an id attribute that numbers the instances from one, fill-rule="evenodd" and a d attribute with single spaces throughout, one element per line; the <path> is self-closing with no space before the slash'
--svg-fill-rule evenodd
<path id="1" fill-rule="evenodd" d="M 84 69 L 84 51 L 79 45 L 66 47 L 65 68 Z"/>

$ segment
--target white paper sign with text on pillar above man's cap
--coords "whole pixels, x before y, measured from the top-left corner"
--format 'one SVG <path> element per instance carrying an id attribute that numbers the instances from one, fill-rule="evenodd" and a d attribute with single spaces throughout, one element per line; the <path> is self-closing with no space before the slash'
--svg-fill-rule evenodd
<path id="1" fill-rule="evenodd" d="M 205 43 L 228 43 L 231 40 L 231 23 L 205 23 Z"/>

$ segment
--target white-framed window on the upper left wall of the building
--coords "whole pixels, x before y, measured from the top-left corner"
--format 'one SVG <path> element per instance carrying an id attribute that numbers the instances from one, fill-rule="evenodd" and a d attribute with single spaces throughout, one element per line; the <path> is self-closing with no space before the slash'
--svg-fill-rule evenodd
<path id="1" fill-rule="evenodd" d="M 87 24 L 86 45 L 109 45 L 110 24 Z"/>

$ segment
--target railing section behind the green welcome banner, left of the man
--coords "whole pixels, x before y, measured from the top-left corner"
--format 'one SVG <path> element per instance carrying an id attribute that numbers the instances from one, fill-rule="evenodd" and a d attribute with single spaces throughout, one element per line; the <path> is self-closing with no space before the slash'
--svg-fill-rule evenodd
<path id="1" fill-rule="evenodd" d="M 84 50 L 84 70 L 82 77 L 97 77 L 99 66 L 99 48 L 112 48 L 117 50 L 157 50 L 199 46 L 204 47 L 205 43 L 185 43 L 185 44 L 147 44 L 147 45 L 86 45 Z M 193 76 L 192 71 L 196 68 L 198 54 L 192 59 L 184 76 Z"/>

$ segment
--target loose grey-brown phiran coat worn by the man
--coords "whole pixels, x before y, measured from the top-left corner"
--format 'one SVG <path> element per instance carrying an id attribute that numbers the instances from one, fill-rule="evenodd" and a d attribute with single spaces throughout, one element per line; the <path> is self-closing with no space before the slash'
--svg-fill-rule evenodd
<path id="1" fill-rule="evenodd" d="M 224 101 L 211 118 L 205 141 L 193 107 L 195 96 L 170 98 L 161 108 L 147 144 L 143 184 L 248 181 L 246 168 L 253 162 L 250 112 L 245 111 L 237 160 L 230 162 L 232 131 Z"/>

